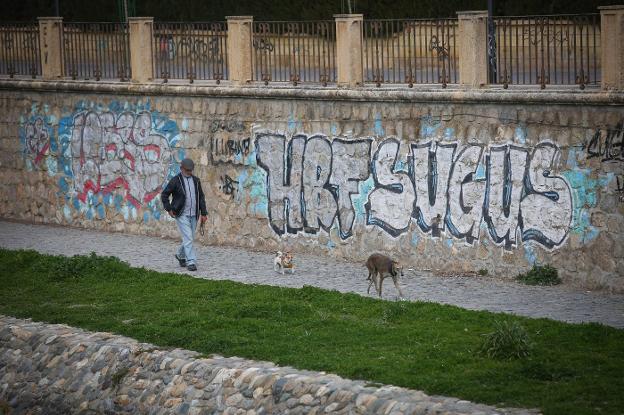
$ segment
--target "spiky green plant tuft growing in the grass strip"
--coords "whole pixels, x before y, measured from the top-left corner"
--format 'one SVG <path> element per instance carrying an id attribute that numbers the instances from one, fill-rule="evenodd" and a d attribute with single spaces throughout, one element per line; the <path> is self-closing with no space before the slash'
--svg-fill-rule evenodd
<path id="1" fill-rule="evenodd" d="M 485 335 L 479 352 L 492 359 L 519 359 L 529 356 L 531 340 L 517 321 L 496 321 L 494 331 Z"/>

